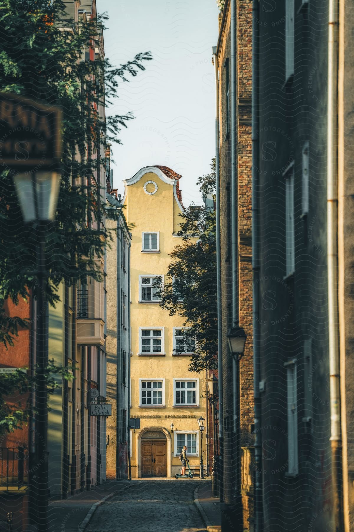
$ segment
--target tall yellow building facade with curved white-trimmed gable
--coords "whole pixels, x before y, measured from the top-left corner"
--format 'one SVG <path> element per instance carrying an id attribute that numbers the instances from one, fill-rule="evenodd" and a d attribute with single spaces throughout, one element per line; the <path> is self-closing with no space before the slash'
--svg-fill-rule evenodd
<path id="1" fill-rule="evenodd" d="M 201 442 L 197 419 L 205 418 L 205 378 L 188 371 L 193 342 L 183 338 L 183 320 L 162 310 L 154 278 L 166 279 L 169 253 L 182 243 L 177 231 L 183 212 L 179 174 L 144 167 L 124 181 L 125 216 L 134 224 L 131 244 L 131 408 L 140 420 L 131 430 L 133 478 L 173 477 L 180 448 L 198 475 Z M 171 425 L 173 427 L 171 428 Z M 202 445 L 201 445 L 202 444 Z"/>

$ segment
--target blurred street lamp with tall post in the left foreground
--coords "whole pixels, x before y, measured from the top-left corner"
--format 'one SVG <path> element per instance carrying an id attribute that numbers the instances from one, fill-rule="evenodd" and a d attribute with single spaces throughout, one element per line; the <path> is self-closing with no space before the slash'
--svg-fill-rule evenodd
<path id="1" fill-rule="evenodd" d="M 57 172 L 24 172 L 13 176 L 23 220 L 32 223 L 37 233 L 36 260 L 38 290 L 36 293 L 35 359 L 35 463 L 31 479 L 34 520 L 37 530 L 44 532 L 48 525 L 48 302 L 45 296 L 46 227 L 55 219 L 60 175 Z M 34 493 L 33 493 L 34 492 Z M 32 523 L 33 524 L 33 523 Z"/>

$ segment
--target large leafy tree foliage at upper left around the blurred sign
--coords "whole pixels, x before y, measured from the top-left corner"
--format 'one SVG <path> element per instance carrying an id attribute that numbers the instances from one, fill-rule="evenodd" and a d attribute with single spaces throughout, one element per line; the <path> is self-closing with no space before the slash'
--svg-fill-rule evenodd
<path id="1" fill-rule="evenodd" d="M 102 20 L 70 22 L 65 9 L 62 0 L 0 3 L 0 90 L 63 110 L 63 173 L 57 217 L 45 230 L 48 276 L 44 295 L 51 305 L 58 301 L 57 287 L 62 280 L 70 285 L 84 276 L 100 279 L 96 257 L 102 256 L 110 238 L 101 223 L 102 207 L 94 184 L 97 180 L 105 185 L 105 176 L 99 176 L 100 145 L 106 140 L 119 143 L 117 135 L 133 115 L 108 117 L 106 125 L 105 113 L 99 110 L 117 97 L 119 80 L 136 76 L 145 69 L 143 63 L 152 59 L 150 52 L 139 53 L 118 68 L 97 54 L 94 60 L 88 59 L 103 30 Z M 36 230 L 23 225 L 13 180 L 3 169 L 0 307 L 6 297 L 16 304 L 19 298 L 27 300 L 30 292 L 38 295 L 37 241 Z M 0 343 L 11 346 L 18 326 L 23 325 L 18 317 L 0 315 Z"/>

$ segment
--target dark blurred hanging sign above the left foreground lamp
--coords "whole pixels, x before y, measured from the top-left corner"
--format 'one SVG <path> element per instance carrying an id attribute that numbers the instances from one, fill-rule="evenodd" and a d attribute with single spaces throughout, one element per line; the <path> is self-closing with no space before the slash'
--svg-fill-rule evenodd
<path id="1" fill-rule="evenodd" d="M 0 93 L 0 170 L 59 170 L 61 124 L 58 107 Z"/>

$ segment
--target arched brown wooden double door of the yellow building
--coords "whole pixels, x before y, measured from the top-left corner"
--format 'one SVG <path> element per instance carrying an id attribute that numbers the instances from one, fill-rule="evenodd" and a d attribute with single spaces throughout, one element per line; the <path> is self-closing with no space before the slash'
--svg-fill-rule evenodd
<path id="1" fill-rule="evenodd" d="M 167 476 L 167 439 L 162 430 L 146 430 L 141 435 L 141 477 Z"/>

